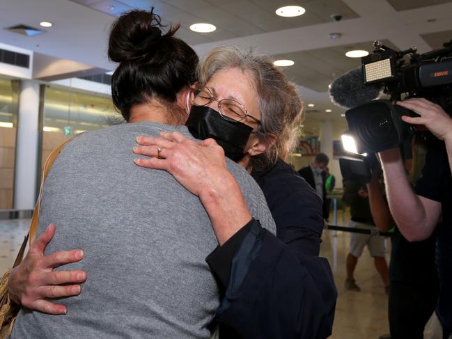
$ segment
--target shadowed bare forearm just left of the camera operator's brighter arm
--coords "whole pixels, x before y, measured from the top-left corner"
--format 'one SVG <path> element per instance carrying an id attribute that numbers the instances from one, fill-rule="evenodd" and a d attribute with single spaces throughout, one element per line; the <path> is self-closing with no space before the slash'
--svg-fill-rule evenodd
<path id="1" fill-rule="evenodd" d="M 373 222 L 380 232 L 387 232 L 393 226 L 394 221 L 389 206 L 383 198 L 380 182 L 378 182 L 380 174 L 381 171 L 372 172 L 371 181 L 367 184 L 367 191 Z"/>

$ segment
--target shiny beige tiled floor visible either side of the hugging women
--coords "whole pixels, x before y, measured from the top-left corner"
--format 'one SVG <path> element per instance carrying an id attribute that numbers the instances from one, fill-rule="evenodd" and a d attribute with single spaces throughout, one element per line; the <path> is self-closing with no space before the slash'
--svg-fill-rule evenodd
<path id="1" fill-rule="evenodd" d="M 339 223 L 342 224 L 343 218 L 340 216 Z M 0 273 L 12 265 L 29 222 L 29 219 L 0 220 Z M 367 250 L 364 250 L 355 271 L 355 279 L 361 292 L 344 290 L 345 258 L 349 243 L 348 232 L 337 232 L 336 237 L 334 231 L 324 232 L 321 255 L 328 258 L 332 265 L 339 293 L 333 335 L 330 338 L 377 339 L 389 333 L 387 296 Z M 387 245 L 390 246 L 389 240 Z"/>

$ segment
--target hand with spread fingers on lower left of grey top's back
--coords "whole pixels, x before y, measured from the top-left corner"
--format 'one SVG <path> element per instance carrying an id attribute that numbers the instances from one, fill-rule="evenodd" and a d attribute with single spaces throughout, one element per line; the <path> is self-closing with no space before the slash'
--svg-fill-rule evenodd
<path id="1" fill-rule="evenodd" d="M 80 294 L 81 287 L 77 284 L 86 281 L 86 272 L 53 270 L 54 267 L 77 262 L 83 258 L 81 250 L 60 251 L 45 256 L 45 248 L 54 234 L 55 226 L 51 223 L 31 244 L 22 263 L 11 272 L 8 289 L 11 299 L 25 308 L 61 315 L 67 313 L 66 306 L 45 299 Z"/>

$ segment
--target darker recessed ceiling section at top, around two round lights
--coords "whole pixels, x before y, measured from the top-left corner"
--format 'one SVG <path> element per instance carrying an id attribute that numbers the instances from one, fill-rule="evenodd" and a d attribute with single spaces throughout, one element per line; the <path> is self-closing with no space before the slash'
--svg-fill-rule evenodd
<path id="1" fill-rule="evenodd" d="M 330 15 L 334 13 L 342 15 L 343 19 L 358 17 L 340 0 L 291 1 L 306 8 L 306 13 L 300 17 L 279 17 L 275 14 L 277 8 L 287 5 L 287 1 L 284 0 L 72 1 L 116 16 L 132 8 L 149 10 L 151 6 L 155 6 L 155 13 L 166 23 L 180 22 L 185 29 L 189 29 L 189 26 L 196 22 L 209 22 L 217 26 L 219 30 L 217 34 L 204 33 L 203 37 L 182 33 L 190 45 L 322 24 L 331 22 Z"/>

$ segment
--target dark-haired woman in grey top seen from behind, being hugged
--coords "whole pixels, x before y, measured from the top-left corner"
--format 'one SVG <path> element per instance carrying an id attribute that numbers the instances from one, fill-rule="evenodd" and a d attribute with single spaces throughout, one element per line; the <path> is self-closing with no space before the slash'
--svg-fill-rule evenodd
<path id="1" fill-rule="evenodd" d="M 118 62 L 112 97 L 127 123 L 75 137 L 49 171 L 42 235 L 10 277 L 10 296 L 23 306 L 13 339 L 209 338 L 220 295 L 205 257 L 224 245 L 232 228 L 254 220 L 251 215 L 275 230 L 262 191 L 230 159 L 215 164 L 235 178 L 224 187 L 226 196 L 214 190 L 195 196 L 169 173 L 133 163 L 137 136 L 170 131 L 192 138 L 181 124 L 198 57 L 174 36 L 177 27 L 166 34 L 161 28 L 158 15 L 141 10 L 112 26 L 109 58 Z M 216 201 L 229 219 L 208 215 L 205 199 Z M 50 222 L 56 233 L 54 226 L 45 230 Z M 52 271 L 65 262 L 71 262 L 65 271 Z M 68 285 L 86 274 L 83 293 Z M 24 281 L 29 285 L 22 288 Z"/>

